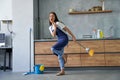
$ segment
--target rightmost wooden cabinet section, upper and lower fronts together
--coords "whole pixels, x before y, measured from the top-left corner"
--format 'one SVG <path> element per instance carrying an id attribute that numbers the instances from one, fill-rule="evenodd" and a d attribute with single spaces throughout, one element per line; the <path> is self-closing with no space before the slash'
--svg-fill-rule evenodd
<path id="1" fill-rule="evenodd" d="M 106 66 L 120 66 L 120 40 L 105 40 Z"/>

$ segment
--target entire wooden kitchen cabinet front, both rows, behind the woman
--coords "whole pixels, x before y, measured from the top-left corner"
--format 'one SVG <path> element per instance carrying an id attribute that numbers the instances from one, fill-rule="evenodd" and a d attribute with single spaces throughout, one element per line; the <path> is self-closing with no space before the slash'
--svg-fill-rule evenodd
<path id="1" fill-rule="evenodd" d="M 67 55 L 66 67 L 93 67 L 93 66 L 120 66 L 120 40 L 119 39 L 93 39 L 78 40 L 82 45 L 93 49 L 95 54 L 91 57 L 73 41 L 65 47 Z M 59 67 L 58 59 L 50 48 L 56 41 L 35 41 L 35 64 L 44 64 L 45 67 Z"/>

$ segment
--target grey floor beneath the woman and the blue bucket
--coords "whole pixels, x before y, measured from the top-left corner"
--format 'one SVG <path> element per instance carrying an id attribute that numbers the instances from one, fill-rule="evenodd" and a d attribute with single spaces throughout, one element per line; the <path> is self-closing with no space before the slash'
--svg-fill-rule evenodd
<path id="1" fill-rule="evenodd" d="M 0 70 L 0 80 L 120 80 L 120 70 L 67 70 L 63 76 L 56 76 L 56 72 L 23 75 L 22 72 Z"/>

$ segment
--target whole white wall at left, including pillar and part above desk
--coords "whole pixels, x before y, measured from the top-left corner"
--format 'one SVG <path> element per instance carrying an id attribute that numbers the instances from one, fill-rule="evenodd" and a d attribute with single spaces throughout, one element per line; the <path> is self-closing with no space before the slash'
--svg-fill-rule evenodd
<path id="1" fill-rule="evenodd" d="M 31 69 L 33 69 L 33 0 L 0 0 L 0 20 L 12 20 L 9 24 L 13 31 L 13 72 L 29 71 L 30 67 L 30 30 L 31 31 Z M 11 45 L 7 23 L 1 21 L 0 32 L 7 36 Z M 3 56 L 0 55 L 0 64 Z"/>

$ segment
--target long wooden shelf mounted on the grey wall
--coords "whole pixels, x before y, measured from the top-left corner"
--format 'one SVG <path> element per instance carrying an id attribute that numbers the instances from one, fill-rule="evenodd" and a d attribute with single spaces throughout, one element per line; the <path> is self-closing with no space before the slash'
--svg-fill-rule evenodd
<path id="1" fill-rule="evenodd" d="M 111 13 L 112 10 L 105 10 L 105 11 L 74 11 L 69 12 L 69 14 L 95 14 L 95 13 Z"/>

